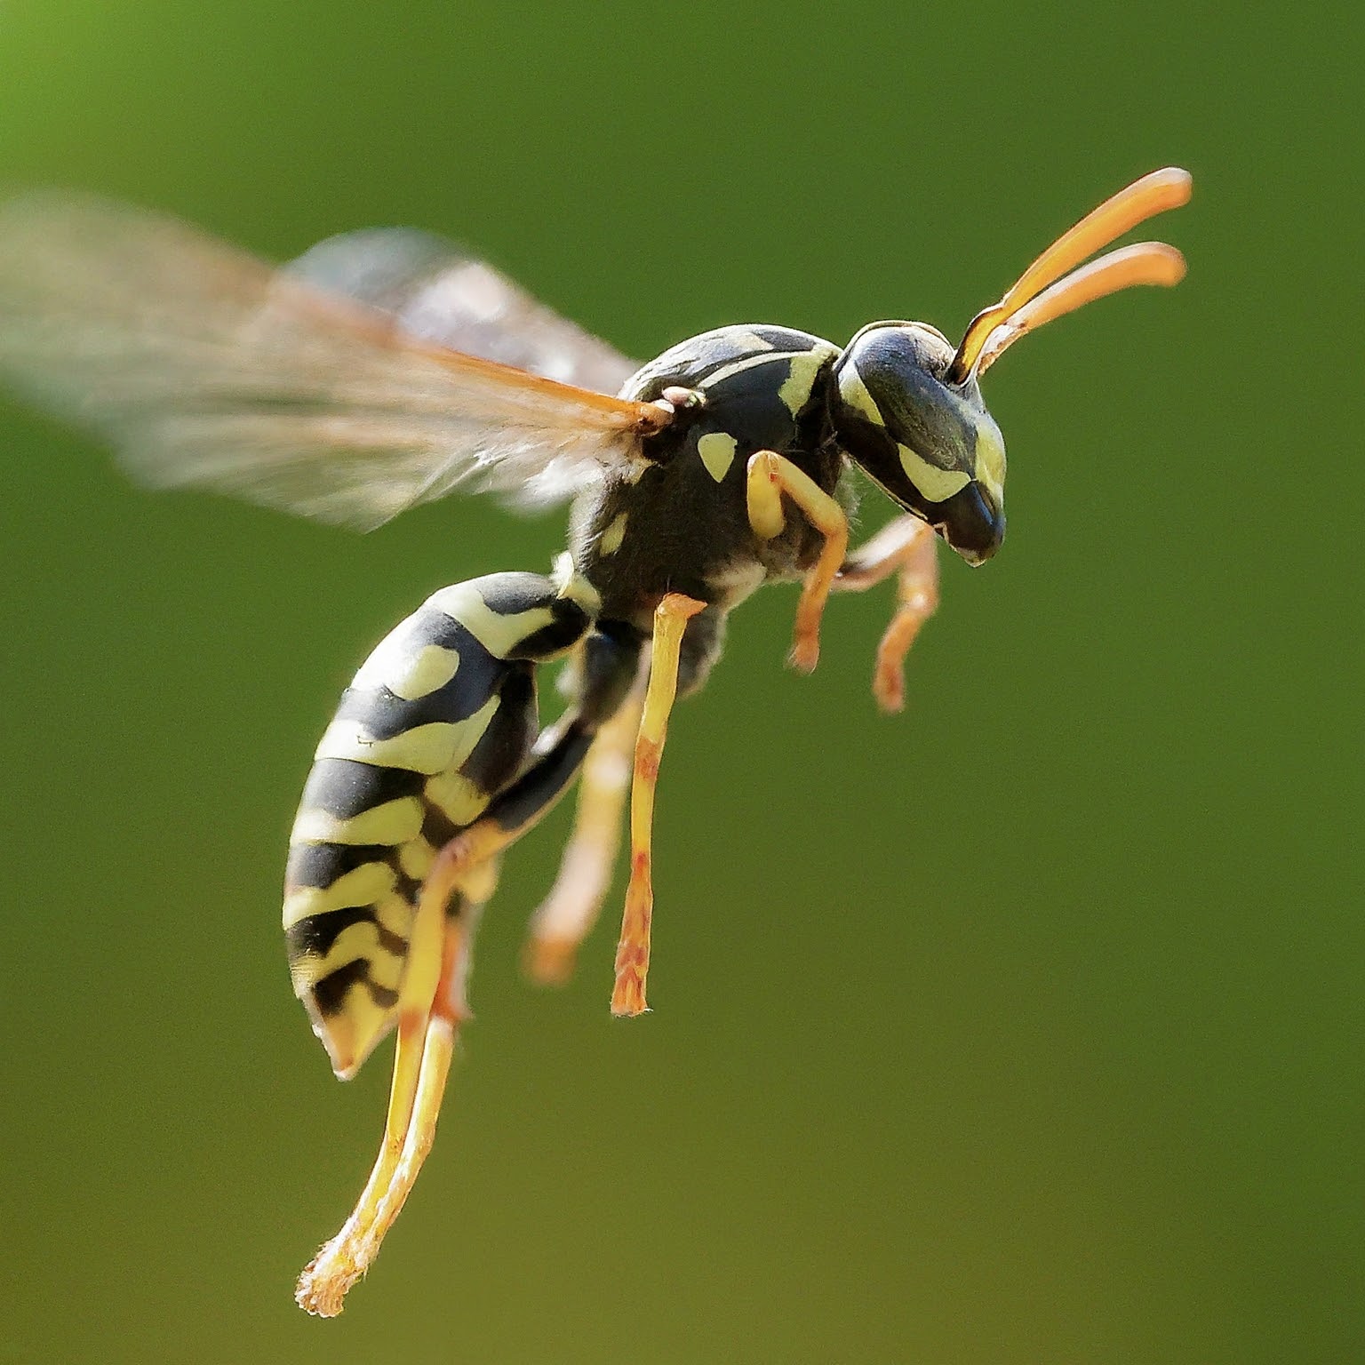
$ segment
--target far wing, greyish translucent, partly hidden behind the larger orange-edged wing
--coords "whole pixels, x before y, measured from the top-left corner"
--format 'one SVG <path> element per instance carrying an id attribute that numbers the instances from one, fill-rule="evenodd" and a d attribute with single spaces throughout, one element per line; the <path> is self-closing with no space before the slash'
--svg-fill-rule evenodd
<path id="1" fill-rule="evenodd" d="M 616 393 L 640 367 L 453 242 L 415 228 L 328 238 L 288 274 L 388 313 L 410 336 Z"/>

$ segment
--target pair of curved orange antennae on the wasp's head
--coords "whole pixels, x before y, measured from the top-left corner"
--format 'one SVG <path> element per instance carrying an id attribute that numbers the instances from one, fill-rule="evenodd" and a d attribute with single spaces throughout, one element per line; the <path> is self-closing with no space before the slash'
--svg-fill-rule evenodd
<path id="1" fill-rule="evenodd" d="M 962 344 L 947 367 L 946 382 L 962 384 L 973 371 L 979 373 L 979 367 L 986 369 L 990 363 L 986 362 L 986 351 L 998 329 L 1007 329 L 1007 333 L 990 345 L 991 360 L 1025 332 L 1040 328 L 1082 303 L 1134 284 L 1175 284 L 1185 274 L 1185 261 L 1174 247 L 1160 242 L 1144 242 L 1137 247 L 1111 251 L 1084 270 L 1070 276 L 1067 272 L 1153 214 L 1188 203 L 1192 184 L 1190 173 L 1179 167 L 1152 171 L 1063 232 L 1010 285 L 999 303 L 983 308 L 972 318 Z M 1036 303 L 1032 310 L 1028 308 L 1031 303 Z"/>

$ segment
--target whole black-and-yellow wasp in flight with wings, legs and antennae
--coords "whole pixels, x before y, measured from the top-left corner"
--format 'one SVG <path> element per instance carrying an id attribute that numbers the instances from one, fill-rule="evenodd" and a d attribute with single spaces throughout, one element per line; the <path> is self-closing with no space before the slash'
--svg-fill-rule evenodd
<path id="1" fill-rule="evenodd" d="M 764 583 L 800 581 L 790 661 L 809 670 L 830 592 L 897 576 L 874 693 L 898 708 L 936 603 L 936 541 L 981 564 L 1005 535 L 1005 442 L 981 377 L 1052 318 L 1175 284 L 1185 262 L 1163 243 L 1089 258 L 1189 192 L 1174 168 L 1119 191 L 957 347 L 924 322 L 872 322 L 844 347 L 745 325 L 644 366 L 420 232 L 345 233 L 276 270 L 94 198 L 0 207 L 0 369 L 145 483 L 359 528 L 450 493 L 572 501 L 551 573 L 444 587 L 379 642 L 303 789 L 284 895 L 295 991 L 341 1078 L 397 1035 L 379 1155 L 299 1280 L 304 1309 L 341 1310 L 431 1147 L 504 850 L 581 778 L 528 949 L 534 976 L 562 979 L 629 784 L 612 1011 L 642 1013 L 667 719 L 706 681 L 729 613 Z M 901 515 L 850 551 L 853 470 Z M 542 728 L 538 670 L 565 658 L 568 707 Z"/>

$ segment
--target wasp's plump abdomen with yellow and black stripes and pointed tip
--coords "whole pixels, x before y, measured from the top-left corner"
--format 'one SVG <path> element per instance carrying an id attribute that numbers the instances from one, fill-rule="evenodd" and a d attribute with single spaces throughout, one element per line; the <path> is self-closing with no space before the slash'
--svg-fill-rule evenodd
<path id="1" fill-rule="evenodd" d="M 532 661 L 588 624 L 541 575 L 456 584 L 393 629 L 343 695 L 303 789 L 284 900 L 295 992 L 339 1076 L 393 1022 L 437 850 L 526 763 Z"/>

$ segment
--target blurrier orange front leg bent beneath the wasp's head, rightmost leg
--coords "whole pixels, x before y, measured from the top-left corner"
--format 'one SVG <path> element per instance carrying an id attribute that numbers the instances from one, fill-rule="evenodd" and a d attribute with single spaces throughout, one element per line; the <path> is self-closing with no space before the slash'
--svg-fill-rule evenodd
<path id="1" fill-rule="evenodd" d="M 898 571 L 897 607 L 876 650 L 872 695 L 883 711 L 905 706 L 905 655 L 938 607 L 938 546 L 917 517 L 897 517 L 845 560 L 835 592 L 863 592 Z"/>

